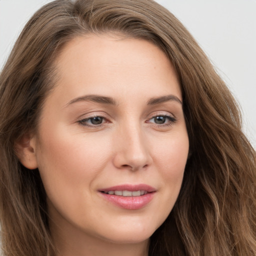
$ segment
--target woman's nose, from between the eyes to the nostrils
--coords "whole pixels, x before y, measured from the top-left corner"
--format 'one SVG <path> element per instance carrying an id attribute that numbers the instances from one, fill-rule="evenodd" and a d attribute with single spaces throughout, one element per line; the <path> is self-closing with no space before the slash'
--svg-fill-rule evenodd
<path id="1" fill-rule="evenodd" d="M 120 128 L 114 137 L 115 167 L 135 171 L 152 163 L 148 141 L 139 125 Z"/>

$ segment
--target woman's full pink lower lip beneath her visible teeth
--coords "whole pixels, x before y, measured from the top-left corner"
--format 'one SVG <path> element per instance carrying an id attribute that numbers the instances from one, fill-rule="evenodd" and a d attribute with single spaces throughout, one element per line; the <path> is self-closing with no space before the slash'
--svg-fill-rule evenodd
<path id="1" fill-rule="evenodd" d="M 150 192 L 150 193 L 139 195 L 139 196 L 122 196 L 122 195 L 105 194 L 105 193 L 101 193 L 101 195 L 106 200 L 110 201 L 111 203 L 121 208 L 136 210 L 148 204 L 152 200 L 154 193 L 155 192 Z"/>

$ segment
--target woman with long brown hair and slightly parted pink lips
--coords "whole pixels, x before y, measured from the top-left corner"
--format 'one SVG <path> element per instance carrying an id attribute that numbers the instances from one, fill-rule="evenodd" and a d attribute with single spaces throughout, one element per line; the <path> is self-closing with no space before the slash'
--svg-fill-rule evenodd
<path id="1" fill-rule="evenodd" d="M 3 255 L 256 255 L 255 151 L 151 0 L 56 0 L 0 75 Z"/>

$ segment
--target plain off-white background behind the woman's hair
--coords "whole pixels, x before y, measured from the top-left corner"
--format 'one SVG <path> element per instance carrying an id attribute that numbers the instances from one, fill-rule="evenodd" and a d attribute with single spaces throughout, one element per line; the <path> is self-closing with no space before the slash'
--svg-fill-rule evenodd
<path id="1" fill-rule="evenodd" d="M 25 22 L 50 0 L 0 0 L 0 69 Z M 256 148 L 256 0 L 157 0 L 188 28 L 239 101 Z"/>

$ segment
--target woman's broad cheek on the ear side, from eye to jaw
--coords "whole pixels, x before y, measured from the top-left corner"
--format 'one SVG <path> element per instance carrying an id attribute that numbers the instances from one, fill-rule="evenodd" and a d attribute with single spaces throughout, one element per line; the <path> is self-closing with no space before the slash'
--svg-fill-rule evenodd
<path id="1" fill-rule="evenodd" d="M 93 181 L 109 158 L 106 143 L 97 142 L 64 129 L 41 132 L 37 162 L 50 214 L 54 214 L 55 208 L 71 221 L 79 219 L 80 212 L 86 212 L 88 205 L 81 201 L 90 201 Z"/>

